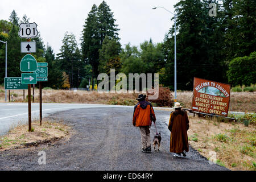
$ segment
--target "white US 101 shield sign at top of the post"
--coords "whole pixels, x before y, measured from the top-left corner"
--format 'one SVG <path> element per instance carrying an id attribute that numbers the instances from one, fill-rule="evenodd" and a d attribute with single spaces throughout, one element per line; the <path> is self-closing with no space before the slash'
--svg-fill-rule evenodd
<path id="1" fill-rule="evenodd" d="M 38 30 L 36 30 L 36 27 L 38 25 L 34 23 L 20 23 L 19 24 L 19 37 L 20 38 L 35 38 L 38 36 Z"/>

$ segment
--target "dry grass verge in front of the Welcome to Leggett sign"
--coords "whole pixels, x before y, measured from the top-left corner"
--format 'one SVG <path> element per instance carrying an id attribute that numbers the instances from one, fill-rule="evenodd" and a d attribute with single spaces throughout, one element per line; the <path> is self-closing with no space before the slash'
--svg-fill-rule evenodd
<path id="1" fill-rule="evenodd" d="M 256 170 L 255 125 L 218 122 L 189 116 L 189 144 L 206 158 L 217 154 L 217 163 L 232 170 Z"/>

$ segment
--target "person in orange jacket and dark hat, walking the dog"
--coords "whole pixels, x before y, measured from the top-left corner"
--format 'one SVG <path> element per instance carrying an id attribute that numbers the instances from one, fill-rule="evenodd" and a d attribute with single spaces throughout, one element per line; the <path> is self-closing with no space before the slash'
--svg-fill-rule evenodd
<path id="1" fill-rule="evenodd" d="M 139 94 L 139 102 L 134 106 L 133 126 L 139 127 L 141 132 L 142 152 L 151 152 L 150 126 L 155 122 L 155 111 L 150 102 L 145 100 L 146 95 Z"/>

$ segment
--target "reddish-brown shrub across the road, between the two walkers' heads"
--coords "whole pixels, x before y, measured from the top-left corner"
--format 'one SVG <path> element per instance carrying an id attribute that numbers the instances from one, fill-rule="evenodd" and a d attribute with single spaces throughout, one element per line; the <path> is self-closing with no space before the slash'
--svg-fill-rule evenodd
<path id="1" fill-rule="evenodd" d="M 148 100 L 148 96 L 152 96 L 152 93 L 147 92 L 147 97 L 146 100 Z M 170 91 L 170 88 L 164 87 L 164 86 L 159 86 L 159 94 L 158 98 L 156 100 L 148 100 L 150 102 L 154 102 L 158 106 L 168 106 L 172 107 L 174 106 L 174 100 L 172 98 L 172 94 Z"/>

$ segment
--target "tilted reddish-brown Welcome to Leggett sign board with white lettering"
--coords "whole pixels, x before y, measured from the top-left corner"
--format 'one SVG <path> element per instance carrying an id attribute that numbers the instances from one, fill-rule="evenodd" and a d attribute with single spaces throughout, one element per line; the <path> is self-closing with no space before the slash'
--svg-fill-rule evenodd
<path id="1" fill-rule="evenodd" d="M 228 116 L 230 85 L 194 78 L 192 110 L 199 113 Z"/>

